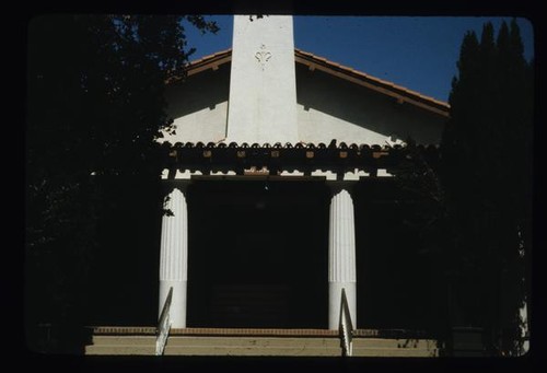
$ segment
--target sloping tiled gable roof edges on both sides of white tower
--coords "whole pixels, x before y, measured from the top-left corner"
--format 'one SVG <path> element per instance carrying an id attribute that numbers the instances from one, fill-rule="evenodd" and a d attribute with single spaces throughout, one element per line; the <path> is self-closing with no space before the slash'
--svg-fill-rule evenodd
<path id="1" fill-rule="evenodd" d="M 374 78 L 350 67 L 329 61 L 326 58 L 318 57 L 300 49 L 294 49 L 294 60 L 296 63 L 307 66 L 311 71 L 323 71 L 354 84 L 359 84 L 372 91 L 391 96 L 395 98 L 399 104 L 408 103 L 422 109 L 433 112 L 438 115 L 442 115 L 445 117 L 449 116 L 450 105 L 447 103 L 422 95 L 419 92 L 411 91 L 393 82 Z M 191 77 L 205 70 L 217 70 L 221 65 L 231 61 L 232 49 L 226 49 L 191 61 L 187 66 L 186 72 L 188 77 Z M 172 79 L 170 83 L 178 80 L 181 79 Z"/>

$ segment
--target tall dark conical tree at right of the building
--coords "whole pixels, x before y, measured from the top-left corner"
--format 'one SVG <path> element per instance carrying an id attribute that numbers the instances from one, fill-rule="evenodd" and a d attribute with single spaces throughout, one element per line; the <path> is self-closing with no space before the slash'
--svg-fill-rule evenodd
<path id="1" fill-rule="evenodd" d="M 522 352 L 519 310 L 527 298 L 532 229 L 533 65 L 516 21 L 494 37 L 484 25 L 463 39 L 441 180 L 451 219 L 450 255 L 459 315 L 480 326 L 492 353 Z"/>

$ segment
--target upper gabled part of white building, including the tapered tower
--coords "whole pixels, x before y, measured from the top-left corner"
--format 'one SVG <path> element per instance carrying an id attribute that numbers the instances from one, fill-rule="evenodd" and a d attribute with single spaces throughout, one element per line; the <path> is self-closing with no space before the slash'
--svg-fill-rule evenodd
<path id="1" fill-rule="evenodd" d="M 440 142 L 446 103 L 294 49 L 292 18 L 278 19 L 236 16 L 233 50 L 194 61 L 184 82 L 170 84 L 177 130 L 164 141 Z"/>

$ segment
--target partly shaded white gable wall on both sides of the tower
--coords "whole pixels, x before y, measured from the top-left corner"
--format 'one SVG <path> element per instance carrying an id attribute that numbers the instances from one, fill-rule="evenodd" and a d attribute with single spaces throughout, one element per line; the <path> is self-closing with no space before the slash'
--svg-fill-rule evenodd
<path id="1" fill-rule="evenodd" d="M 230 63 L 187 79 L 167 89 L 168 113 L 176 135 L 171 143 L 218 142 L 226 136 Z M 393 144 L 408 137 L 418 143 L 439 143 L 445 118 L 408 103 L 372 92 L 296 63 L 299 140 Z M 251 141 L 252 142 L 252 141 Z"/>

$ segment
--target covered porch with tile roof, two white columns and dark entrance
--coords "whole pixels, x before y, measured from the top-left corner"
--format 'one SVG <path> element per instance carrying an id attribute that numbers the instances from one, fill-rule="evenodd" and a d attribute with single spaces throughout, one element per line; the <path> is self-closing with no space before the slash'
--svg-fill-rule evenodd
<path id="1" fill-rule="evenodd" d="M 432 148 L 421 151 L 435 155 Z M 439 312 L 431 264 L 403 226 L 405 211 L 417 201 L 404 196 L 387 172 L 401 153 L 400 148 L 345 144 L 167 149 L 164 193 L 176 190 L 178 197 L 164 206 L 174 215 L 162 218 L 156 310 L 160 314 L 174 288 L 178 300 L 170 305 L 168 338 L 293 338 L 296 333 L 326 338 L 340 349 L 345 289 L 353 341 L 397 340 L 392 348 L 423 340 L 427 351 L 412 353 L 439 354 L 437 343 L 431 352 L 430 322 Z M 165 245 L 176 240 L 173 260 L 176 250 L 170 254 Z M 176 293 L 177 285 L 184 291 Z M 112 333 L 95 327 L 93 335 L 112 341 L 136 330 L 120 327 Z M 152 329 L 159 333 L 158 327 L 139 330 L 151 337 Z M 90 345 L 90 353 L 95 345 L 101 342 Z"/>

